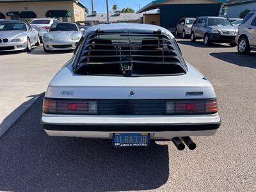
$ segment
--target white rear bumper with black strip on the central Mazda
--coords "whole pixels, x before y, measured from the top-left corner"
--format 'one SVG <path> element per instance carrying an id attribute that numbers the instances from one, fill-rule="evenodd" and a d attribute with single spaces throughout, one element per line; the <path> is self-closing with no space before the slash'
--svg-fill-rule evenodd
<path id="1" fill-rule="evenodd" d="M 49 136 L 112 138 L 116 132 L 147 132 L 152 139 L 213 135 L 218 114 L 200 116 L 42 116 Z"/>

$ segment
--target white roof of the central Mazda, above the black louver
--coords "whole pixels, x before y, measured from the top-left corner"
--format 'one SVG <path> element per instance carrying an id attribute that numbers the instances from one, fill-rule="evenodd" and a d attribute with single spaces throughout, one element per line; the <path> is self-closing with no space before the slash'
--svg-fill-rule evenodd
<path id="1" fill-rule="evenodd" d="M 87 29 L 88 32 L 90 31 L 95 31 L 96 29 L 100 29 L 102 31 L 106 30 L 106 31 L 110 31 L 110 30 L 120 30 L 120 31 L 124 31 L 124 30 L 134 30 L 134 31 L 140 31 L 140 30 L 144 30 L 144 31 L 157 31 L 158 29 L 160 29 L 161 31 L 164 31 L 166 33 L 168 33 L 169 35 L 172 36 L 172 34 L 170 33 L 170 31 L 168 31 L 165 28 L 162 28 L 160 26 L 155 26 L 155 25 L 151 25 L 151 24 L 136 24 L 136 23 L 110 23 L 110 24 L 99 24 L 96 26 L 92 26 L 91 28 Z"/>

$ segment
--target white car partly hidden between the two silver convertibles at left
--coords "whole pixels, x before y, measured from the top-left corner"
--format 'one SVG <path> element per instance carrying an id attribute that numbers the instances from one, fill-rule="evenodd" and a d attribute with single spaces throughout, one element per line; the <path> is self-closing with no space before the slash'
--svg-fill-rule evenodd
<path id="1" fill-rule="evenodd" d="M 38 31 L 40 41 L 42 42 L 43 35 L 48 32 L 52 24 L 58 22 L 59 20 L 57 19 L 34 19 L 30 22 L 30 25 Z"/>

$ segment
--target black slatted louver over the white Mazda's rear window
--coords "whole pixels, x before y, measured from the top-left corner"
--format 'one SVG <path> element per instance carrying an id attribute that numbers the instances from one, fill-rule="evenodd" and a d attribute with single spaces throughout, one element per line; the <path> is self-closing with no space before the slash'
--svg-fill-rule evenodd
<path id="1" fill-rule="evenodd" d="M 123 76 L 186 73 L 172 40 L 162 31 L 97 30 L 85 41 L 76 72 Z"/>

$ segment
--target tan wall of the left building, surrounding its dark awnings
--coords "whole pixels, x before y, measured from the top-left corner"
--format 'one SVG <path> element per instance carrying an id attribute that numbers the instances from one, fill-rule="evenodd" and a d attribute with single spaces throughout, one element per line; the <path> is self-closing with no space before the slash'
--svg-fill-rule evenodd
<path id="1" fill-rule="evenodd" d="M 74 10 L 79 10 L 81 17 L 76 17 Z M 83 8 L 78 6 L 76 3 L 68 1 L 58 1 L 58 2 L 24 2 L 24 3 L 0 3 L 0 12 L 4 13 L 5 19 L 11 19 L 11 17 L 6 16 L 6 12 L 23 12 L 23 11 L 32 11 L 36 13 L 37 18 L 45 18 L 45 13 L 49 10 L 67 10 L 72 13 L 70 18 L 72 22 L 77 20 L 84 20 Z"/>

